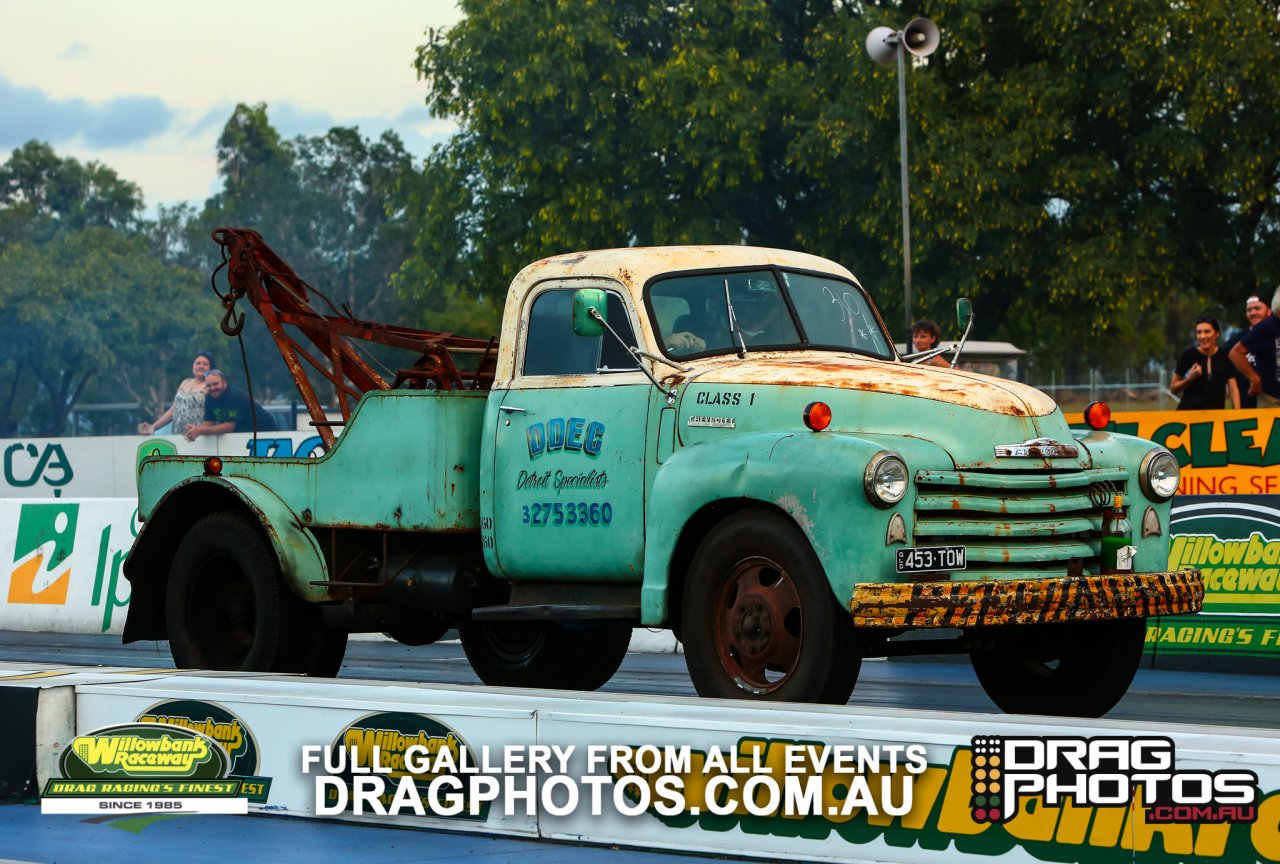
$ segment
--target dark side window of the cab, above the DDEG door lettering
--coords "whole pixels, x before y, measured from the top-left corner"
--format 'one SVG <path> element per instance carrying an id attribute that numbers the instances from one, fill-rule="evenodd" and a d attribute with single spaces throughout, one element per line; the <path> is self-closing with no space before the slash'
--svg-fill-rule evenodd
<path id="1" fill-rule="evenodd" d="M 622 298 L 608 294 L 609 325 L 628 346 L 635 344 Z M 525 339 L 525 375 L 594 375 L 635 369 L 635 360 L 605 334 L 589 339 L 573 333 L 573 291 L 545 291 L 534 300 Z"/>

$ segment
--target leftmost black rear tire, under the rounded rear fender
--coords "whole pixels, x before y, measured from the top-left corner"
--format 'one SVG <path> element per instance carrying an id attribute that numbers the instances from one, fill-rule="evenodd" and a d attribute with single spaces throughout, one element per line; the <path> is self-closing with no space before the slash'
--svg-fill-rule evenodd
<path id="1" fill-rule="evenodd" d="M 274 671 L 288 599 L 256 521 L 233 511 L 202 517 L 178 544 L 169 571 L 165 622 L 174 663 Z"/>

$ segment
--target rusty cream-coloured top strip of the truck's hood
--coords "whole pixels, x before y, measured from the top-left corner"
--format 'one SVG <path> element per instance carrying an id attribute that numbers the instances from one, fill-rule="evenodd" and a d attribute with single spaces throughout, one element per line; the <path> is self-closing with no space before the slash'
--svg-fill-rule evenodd
<path id="1" fill-rule="evenodd" d="M 892 393 L 1012 417 L 1044 417 L 1057 410 L 1057 403 L 1036 388 L 1002 378 L 869 357 L 832 357 L 818 352 L 774 352 L 718 362 L 698 375 L 698 383 L 831 387 Z"/>

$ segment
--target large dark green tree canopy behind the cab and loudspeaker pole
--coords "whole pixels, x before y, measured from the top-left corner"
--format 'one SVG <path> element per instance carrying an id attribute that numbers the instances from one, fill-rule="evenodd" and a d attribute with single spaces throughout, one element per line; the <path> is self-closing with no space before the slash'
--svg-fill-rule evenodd
<path id="1" fill-rule="evenodd" d="M 1272 0 L 461 5 L 417 55 L 461 128 L 402 189 L 429 323 L 495 326 L 536 257 L 672 242 L 827 255 L 900 321 L 897 73 L 863 42 L 916 14 L 914 315 L 968 294 L 979 337 L 1138 362 L 1280 279 Z"/>

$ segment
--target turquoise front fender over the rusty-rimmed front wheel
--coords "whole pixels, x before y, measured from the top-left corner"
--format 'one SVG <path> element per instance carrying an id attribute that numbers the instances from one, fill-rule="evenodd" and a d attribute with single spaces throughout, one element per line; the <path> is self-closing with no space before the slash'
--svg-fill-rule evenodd
<path id="1" fill-rule="evenodd" d="M 849 604 L 855 581 L 882 581 L 881 564 L 888 559 L 884 538 L 895 509 L 867 499 L 863 471 L 868 461 L 892 449 L 904 456 L 913 474 L 918 467 L 951 465 L 945 451 L 927 442 L 895 438 L 893 443 L 842 433 L 760 433 L 672 456 L 654 477 L 646 508 L 641 621 L 668 622 L 672 589 L 687 561 L 677 550 L 701 540 L 689 531 L 709 530 L 716 518 L 700 516 L 717 508 L 763 506 L 790 516 L 809 539 L 842 605 Z M 908 531 L 911 499 L 908 494 L 896 511 Z"/>

